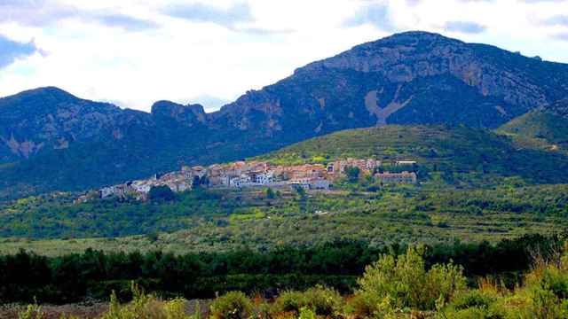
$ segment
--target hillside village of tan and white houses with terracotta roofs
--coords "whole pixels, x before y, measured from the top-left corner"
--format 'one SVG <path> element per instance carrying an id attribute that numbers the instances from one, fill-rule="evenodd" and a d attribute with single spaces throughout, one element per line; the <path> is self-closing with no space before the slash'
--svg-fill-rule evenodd
<path id="1" fill-rule="evenodd" d="M 396 161 L 396 166 L 413 167 L 412 160 Z M 195 187 L 242 190 L 253 187 L 303 188 L 304 190 L 329 190 L 333 183 L 345 177 L 349 169 L 361 175 L 373 175 L 381 183 L 416 183 L 412 171 L 400 173 L 379 170 L 382 162 L 376 159 L 341 159 L 327 165 L 304 164 L 275 166 L 264 161 L 237 161 L 230 164 L 214 164 L 209 167 L 182 167 L 180 171 L 153 175 L 145 180 L 132 181 L 100 189 L 99 198 L 133 196 L 146 200 L 153 187 L 168 186 L 171 191 L 181 192 Z M 88 195 L 78 200 L 84 201 Z"/>

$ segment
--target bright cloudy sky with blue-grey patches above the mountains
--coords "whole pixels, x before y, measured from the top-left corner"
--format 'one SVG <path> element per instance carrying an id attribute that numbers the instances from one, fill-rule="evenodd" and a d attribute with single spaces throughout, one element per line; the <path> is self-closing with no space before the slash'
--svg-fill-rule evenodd
<path id="1" fill-rule="evenodd" d="M 0 0 L 0 97 L 57 86 L 208 112 L 297 67 L 410 30 L 568 63 L 568 0 Z"/>

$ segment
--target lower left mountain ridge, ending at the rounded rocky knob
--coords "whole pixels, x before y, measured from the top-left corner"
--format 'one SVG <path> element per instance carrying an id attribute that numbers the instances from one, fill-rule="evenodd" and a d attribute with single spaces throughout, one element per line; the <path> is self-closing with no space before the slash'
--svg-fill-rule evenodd
<path id="1" fill-rule="evenodd" d="M 157 102 L 152 113 L 41 88 L 0 99 L 0 198 L 82 190 L 178 167 L 199 151 L 201 105 Z"/>

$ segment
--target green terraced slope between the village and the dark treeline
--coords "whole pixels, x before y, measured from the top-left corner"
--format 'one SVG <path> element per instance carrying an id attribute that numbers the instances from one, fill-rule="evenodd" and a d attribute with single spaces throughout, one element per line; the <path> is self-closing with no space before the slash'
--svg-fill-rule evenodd
<path id="1" fill-rule="evenodd" d="M 364 182 L 362 182 L 364 183 Z M 20 199 L 0 214 L 0 252 L 230 251 L 351 238 L 393 242 L 498 241 L 568 225 L 568 185 L 487 190 L 394 187 L 379 191 L 187 191 L 170 202 Z M 167 232 L 167 233 L 164 233 Z M 106 237 L 106 238 L 92 238 Z M 115 238 L 116 237 L 116 238 Z M 29 240 L 33 238 L 34 240 Z M 67 238 L 61 240 L 61 238 Z"/>

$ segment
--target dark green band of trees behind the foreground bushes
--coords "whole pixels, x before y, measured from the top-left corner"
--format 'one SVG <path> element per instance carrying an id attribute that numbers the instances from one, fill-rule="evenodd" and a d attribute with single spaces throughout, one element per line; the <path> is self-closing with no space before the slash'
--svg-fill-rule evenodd
<path id="1" fill-rule="evenodd" d="M 531 235 L 488 243 L 427 246 L 427 267 L 454 261 L 470 279 L 501 276 L 516 283 L 533 254 L 546 256 L 559 246 L 559 236 Z M 0 301 L 68 303 L 106 299 L 114 290 L 130 297 L 134 281 L 147 292 L 188 299 L 211 298 L 228 291 L 302 290 L 325 284 L 351 292 L 365 267 L 381 255 L 396 255 L 405 245 L 376 248 L 362 242 L 338 241 L 314 247 L 282 246 L 268 252 L 247 249 L 232 253 L 84 253 L 44 257 L 21 251 L 0 257 Z M 473 282 L 473 281 L 472 281 Z"/>

